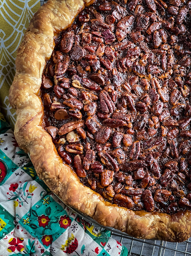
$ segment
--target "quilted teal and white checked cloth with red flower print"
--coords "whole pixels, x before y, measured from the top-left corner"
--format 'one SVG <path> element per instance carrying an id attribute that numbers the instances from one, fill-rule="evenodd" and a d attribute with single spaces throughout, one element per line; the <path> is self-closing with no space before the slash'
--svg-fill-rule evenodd
<path id="1" fill-rule="evenodd" d="M 0 114 L 0 255 L 127 256 L 110 231 L 81 219 L 36 175 Z"/>

